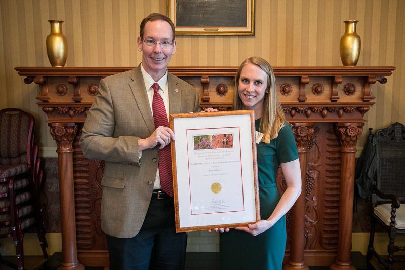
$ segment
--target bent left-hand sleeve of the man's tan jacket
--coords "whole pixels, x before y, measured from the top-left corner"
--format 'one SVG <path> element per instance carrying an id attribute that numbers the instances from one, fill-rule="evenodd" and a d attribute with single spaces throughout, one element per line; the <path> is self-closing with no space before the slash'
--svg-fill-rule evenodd
<path id="1" fill-rule="evenodd" d="M 115 115 L 110 88 L 105 80 L 99 84 L 99 93 L 86 117 L 80 138 L 83 155 L 140 166 L 137 136 L 114 137 Z"/>

